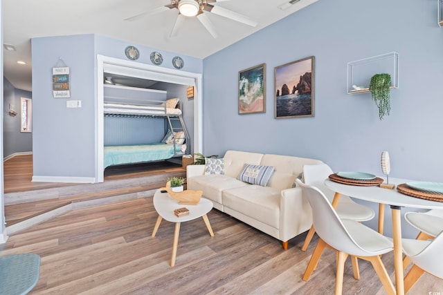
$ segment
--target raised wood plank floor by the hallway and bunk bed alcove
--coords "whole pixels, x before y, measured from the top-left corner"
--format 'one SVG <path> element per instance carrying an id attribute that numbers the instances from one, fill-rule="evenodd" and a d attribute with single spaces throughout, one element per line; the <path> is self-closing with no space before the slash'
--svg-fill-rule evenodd
<path id="1" fill-rule="evenodd" d="M 28 220 L 42 213 L 53 211 L 57 208 L 71 204 L 71 202 L 82 202 L 85 200 L 105 200 L 129 193 L 143 193 L 159 189 L 170 176 L 186 177 L 186 171 L 180 164 L 171 162 L 152 162 L 133 165 L 110 166 L 105 170 L 105 185 L 100 189 L 94 189 L 96 184 L 69 184 L 57 182 L 31 182 L 33 175 L 32 155 L 18 155 L 7 160 L 4 165 L 5 193 L 24 193 L 32 201 L 7 204 L 5 206 L 5 217 L 7 226 Z M 125 180 L 125 184 L 115 183 Z M 64 187 L 69 191 L 69 196 L 53 196 L 40 200 L 38 190 L 54 189 Z M 85 189 L 86 188 L 86 189 Z M 46 193 L 46 192 L 45 192 Z M 153 193 L 152 193 L 153 194 Z M 146 196 L 152 196 L 147 194 Z"/>

